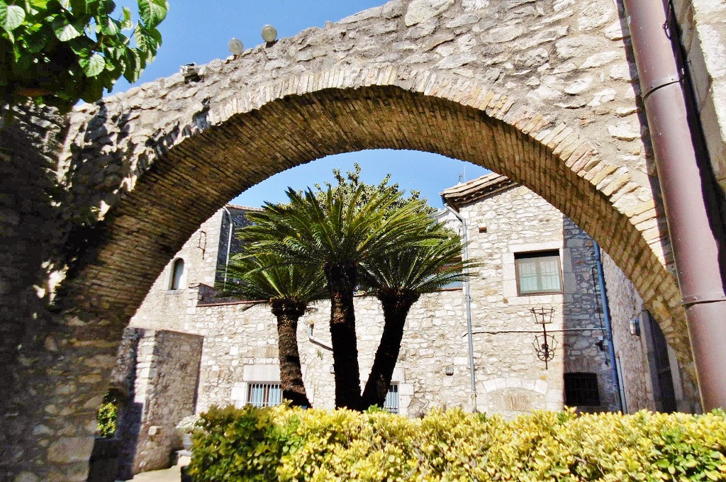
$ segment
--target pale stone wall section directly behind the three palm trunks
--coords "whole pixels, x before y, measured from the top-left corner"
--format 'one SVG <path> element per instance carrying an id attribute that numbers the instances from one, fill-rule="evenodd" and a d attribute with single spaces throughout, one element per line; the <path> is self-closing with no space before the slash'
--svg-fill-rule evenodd
<path id="1" fill-rule="evenodd" d="M 372 367 L 383 330 L 383 312 L 375 298 L 356 298 L 359 362 L 362 383 Z M 314 407 L 333 408 L 335 382 L 330 351 L 308 337 L 330 346 L 330 304 L 319 303 L 298 325 L 303 378 Z M 212 404 L 242 405 L 247 383 L 279 382 L 277 330 L 266 306 L 251 304 L 199 306 L 192 330 L 207 332 L 200 375 L 197 412 Z M 399 364 L 393 382 L 399 383 L 400 413 L 418 414 L 432 407 L 467 406 L 468 359 L 460 290 L 425 295 L 409 314 Z M 444 367 L 456 366 L 454 376 Z M 444 386 L 446 388 L 444 388 Z"/>

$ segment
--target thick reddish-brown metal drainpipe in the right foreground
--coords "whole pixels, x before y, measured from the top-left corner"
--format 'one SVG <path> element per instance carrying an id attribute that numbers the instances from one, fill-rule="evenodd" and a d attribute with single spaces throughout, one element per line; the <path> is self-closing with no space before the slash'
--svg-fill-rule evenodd
<path id="1" fill-rule="evenodd" d="M 677 30 L 666 20 L 663 0 L 623 0 L 678 283 L 696 363 L 701 404 L 726 407 L 726 296 L 719 253 L 726 253 L 723 226 L 688 86 L 677 58 Z M 689 123 L 690 120 L 690 123 Z M 701 159 L 699 159 L 700 155 Z"/>

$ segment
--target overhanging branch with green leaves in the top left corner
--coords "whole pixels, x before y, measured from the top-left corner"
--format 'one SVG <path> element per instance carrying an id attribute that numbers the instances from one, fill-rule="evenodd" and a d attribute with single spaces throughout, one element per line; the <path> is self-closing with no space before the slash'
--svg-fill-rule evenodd
<path id="1" fill-rule="evenodd" d="M 138 0 L 139 22 L 111 0 L 0 0 L 2 102 L 67 112 L 95 102 L 123 75 L 134 83 L 161 45 L 167 0 Z M 127 34 L 128 32 L 128 34 Z"/>

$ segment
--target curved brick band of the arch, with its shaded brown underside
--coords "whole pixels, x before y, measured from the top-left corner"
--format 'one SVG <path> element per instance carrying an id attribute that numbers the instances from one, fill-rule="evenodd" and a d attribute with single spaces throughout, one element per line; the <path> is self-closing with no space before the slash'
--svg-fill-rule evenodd
<path id="1" fill-rule="evenodd" d="M 422 150 L 505 174 L 566 213 L 611 253 L 669 342 L 690 359 L 653 193 L 632 168 L 598 155 L 578 129 L 496 86 L 392 65 L 298 75 L 263 94 L 155 134 L 156 159 L 107 213 L 96 263 L 69 283 L 72 303 L 86 298 L 94 313 L 103 311 L 97 303 L 135 309 L 205 218 L 274 173 L 340 152 Z M 122 293 L 118 285 L 134 288 Z"/>

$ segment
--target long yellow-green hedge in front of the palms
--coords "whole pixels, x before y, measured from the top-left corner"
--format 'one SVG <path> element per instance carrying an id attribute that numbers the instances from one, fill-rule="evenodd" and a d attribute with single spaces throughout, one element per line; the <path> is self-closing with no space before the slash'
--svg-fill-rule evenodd
<path id="1" fill-rule="evenodd" d="M 222 481 L 725 481 L 726 413 L 213 407 L 189 473 Z"/>

